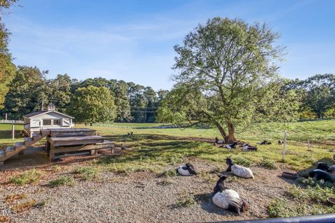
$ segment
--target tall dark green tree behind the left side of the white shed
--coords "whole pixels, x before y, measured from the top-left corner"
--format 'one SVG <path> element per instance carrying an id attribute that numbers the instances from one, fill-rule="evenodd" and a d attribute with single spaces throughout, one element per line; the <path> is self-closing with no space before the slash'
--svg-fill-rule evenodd
<path id="1" fill-rule="evenodd" d="M 45 73 L 36 67 L 19 66 L 14 79 L 8 84 L 6 112 L 11 118 L 22 118 L 40 109 L 45 89 Z"/>

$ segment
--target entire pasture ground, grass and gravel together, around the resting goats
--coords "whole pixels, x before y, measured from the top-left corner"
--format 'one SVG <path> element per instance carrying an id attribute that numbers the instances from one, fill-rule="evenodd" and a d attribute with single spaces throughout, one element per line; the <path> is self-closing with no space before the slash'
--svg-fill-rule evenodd
<path id="1" fill-rule="evenodd" d="M 34 205 L 23 208 L 20 215 L 13 217 L 17 222 L 24 222 L 24 220 L 33 222 L 36 217 L 38 219 L 49 215 L 54 208 L 61 211 L 64 205 L 68 204 L 64 199 L 70 198 L 79 210 L 86 213 L 85 208 L 89 208 L 90 204 L 86 203 L 86 195 L 78 195 L 82 188 L 95 191 L 94 196 L 87 195 L 91 202 L 106 202 L 99 205 L 103 211 L 107 211 L 104 208 L 107 208 L 108 201 L 106 197 L 101 197 L 103 196 L 101 194 L 114 197 L 117 203 L 122 203 L 124 209 L 121 209 L 126 213 L 122 214 L 118 209 L 119 211 L 114 213 L 116 220 L 122 220 L 124 216 L 128 216 L 131 220 L 140 219 L 143 222 L 148 220 L 188 222 L 335 212 L 334 207 L 329 206 L 327 202 L 329 197 L 335 197 L 333 185 L 306 178 L 287 180 L 280 176 L 281 171 L 299 171 L 304 175 L 306 170 L 315 167 L 315 164 L 320 161 L 334 164 L 332 157 L 335 153 L 335 120 L 285 124 L 262 123 L 238 133 L 237 139 L 249 144 L 256 144 L 257 141 L 265 139 L 273 143 L 266 146 L 258 145 L 256 152 L 244 152 L 240 148 L 228 150 L 214 146 L 211 141 L 219 137 L 219 134 L 213 128 L 180 130 L 178 128 L 141 128 L 161 124 L 131 124 L 113 124 L 118 125 L 117 127 L 87 126 L 98 130 L 101 135 L 114 141 L 115 144 L 120 146 L 123 144 L 129 148 L 123 155 L 86 157 L 85 160 L 78 158 L 76 162 L 61 160 L 54 163 L 49 163 L 47 157 L 43 158 L 43 155 L 40 155 L 46 161 L 31 165 L 21 164 L 15 160 L 18 159 L 15 157 L 13 160 L 6 161 L 8 164 L 5 162 L 1 167 L 3 170 L 0 176 L 1 187 L 9 185 L 10 189 L 8 189 L 9 194 L 8 192 L 3 194 L 4 190 L 2 190 L 0 195 L 5 201 L 0 202 L 11 206 L 35 202 Z M 85 126 L 76 125 L 76 128 L 83 127 Z M 14 141 L 10 139 L 10 128 L 10 125 L 0 125 L 1 148 L 13 144 L 14 141 L 22 141 L 19 135 Z M 22 125 L 17 125 L 17 133 L 20 128 Z M 277 145 L 276 141 L 283 139 L 285 130 L 288 131 L 288 144 L 285 160 L 282 160 L 283 146 Z M 133 132 L 133 135 L 128 136 L 128 132 Z M 310 150 L 307 148 L 308 137 L 311 141 Z M 210 199 L 210 192 L 217 179 L 216 172 L 223 172 L 227 168 L 225 158 L 229 155 L 232 155 L 232 159 L 237 164 L 250 167 L 255 173 L 255 180 L 234 176 L 228 180 L 228 187 L 237 190 L 251 203 L 251 210 L 240 216 L 216 208 Z M 24 156 L 20 159 L 24 159 Z M 177 176 L 175 167 L 185 162 L 191 162 L 198 167 L 200 174 L 188 178 Z M 183 186 L 179 187 L 179 185 Z M 143 188 L 144 192 L 142 189 L 137 191 L 138 188 Z M 134 196 L 132 202 L 143 201 L 143 203 L 136 206 L 133 206 L 133 203 L 123 206 L 129 199 L 122 195 L 124 190 L 136 192 L 136 195 L 132 195 Z M 152 194 L 154 193 L 152 190 L 161 192 L 162 199 L 155 198 L 156 195 Z M 62 193 L 67 195 L 63 196 Z M 6 200 L 6 197 L 10 199 L 10 196 L 15 197 L 15 194 L 24 194 L 24 196 L 14 201 Z M 17 195 L 17 197 L 20 196 Z M 43 203 L 43 205 L 36 208 L 36 203 Z M 161 209 L 156 210 L 153 206 Z M 128 213 L 132 211 L 136 214 Z M 197 216 L 194 215 L 195 211 L 199 213 Z M 146 212 L 148 213 L 145 216 L 140 214 Z M 165 214 L 158 216 L 156 215 L 158 212 Z M 88 214 L 77 217 L 74 215 L 72 220 L 80 221 L 84 216 L 87 220 L 91 217 Z M 59 218 L 61 219 L 61 216 Z M 108 220 L 101 218 L 101 221 Z"/>

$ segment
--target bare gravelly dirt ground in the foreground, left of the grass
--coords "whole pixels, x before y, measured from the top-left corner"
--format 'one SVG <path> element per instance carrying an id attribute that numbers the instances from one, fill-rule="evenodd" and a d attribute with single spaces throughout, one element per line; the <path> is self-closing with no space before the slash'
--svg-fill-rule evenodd
<path id="1" fill-rule="evenodd" d="M 75 161 L 85 160 L 85 157 L 59 162 L 58 165 L 64 169 L 57 172 L 52 170 L 54 164 L 47 161 L 43 152 L 37 150 L 30 155 L 30 163 L 27 154 L 28 159 L 26 156 L 24 162 L 15 162 L 15 158 L 1 167 L 0 204 L 8 208 L 31 200 L 46 202 L 43 206 L 29 208 L 6 219 L 11 222 L 213 222 L 260 219 L 268 217 L 269 202 L 274 197 L 281 197 L 285 188 L 293 183 L 281 178 L 281 171 L 285 170 L 280 168 L 269 170 L 251 167 L 254 180 L 230 177 L 227 186 L 250 203 L 248 212 L 237 215 L 211 202 L 211 192 L 217 179 L 214 173 L 216 167 L 211 162 L 193 161 L 200 171 L 198 176 L 163 177 L 151 172 L 133 172 L 126 176 L 107 171 L 99 173 L 94 180 L 77 179 L 72 187 L 48 187 L 50 178 L 70 174 L 68 169 L 77 164 Z M 39 160 L 38 165 L 36 160 Z M 9 176 L 33 167 L 47 171 L 47 176 L 36 185 L 7 183 Z M 8 194 L 22 193 L 27 197 L 6 203 Z M 191 203 L 186 206 L 185 202 L 190 197 Z"/>

